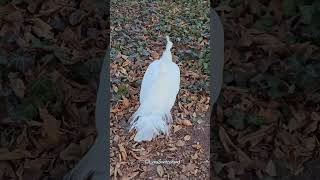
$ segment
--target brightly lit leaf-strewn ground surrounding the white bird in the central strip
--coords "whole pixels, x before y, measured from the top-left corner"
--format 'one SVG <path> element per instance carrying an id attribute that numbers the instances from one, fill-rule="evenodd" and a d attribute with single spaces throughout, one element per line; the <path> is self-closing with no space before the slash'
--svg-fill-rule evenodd
<path id="1" fill-rule="evenodd" d="M 112 179 L 209 179 L 209 4 L 111 2 Z M 136 143 L 126 121 L 139 106 L 148 65 L 173 42 L 181 86 L 169 138 Z M 174 164 L 148 164 L 147 161 Z"/>

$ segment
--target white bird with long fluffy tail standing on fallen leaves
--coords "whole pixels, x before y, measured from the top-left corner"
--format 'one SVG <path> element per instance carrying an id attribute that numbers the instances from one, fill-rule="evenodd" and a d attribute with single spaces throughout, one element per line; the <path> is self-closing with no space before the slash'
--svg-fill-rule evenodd
<path id="1" fill-rule="evenodd" d="M 172 42 L 167 45 L 159 60 L 147 68 L 141 84 L 140 106 L 130 118 L 130 131 L 135 129 L 136 142 L 151 141 L 155 136 L 169 134 L 172 123 L 171 109 L 180 87 L 180 69 L 172 61 Z"/>

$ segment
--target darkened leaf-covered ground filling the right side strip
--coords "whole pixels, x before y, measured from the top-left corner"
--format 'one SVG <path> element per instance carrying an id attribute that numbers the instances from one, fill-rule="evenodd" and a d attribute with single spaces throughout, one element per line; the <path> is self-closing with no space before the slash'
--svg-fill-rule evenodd
<path id="1" fill-rule="evenodd" d="M 320 3 L 221 1 L 214 179 L 319 179 Z"/>

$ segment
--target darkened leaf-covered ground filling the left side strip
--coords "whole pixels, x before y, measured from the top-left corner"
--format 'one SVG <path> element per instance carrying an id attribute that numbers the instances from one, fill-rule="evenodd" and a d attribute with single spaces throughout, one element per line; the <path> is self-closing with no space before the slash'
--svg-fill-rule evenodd
<path id="1" fill-rule="evenodd" d="M 61 180 L 92 145 L 107 13 L 0 0 L 0 179 Z"/>

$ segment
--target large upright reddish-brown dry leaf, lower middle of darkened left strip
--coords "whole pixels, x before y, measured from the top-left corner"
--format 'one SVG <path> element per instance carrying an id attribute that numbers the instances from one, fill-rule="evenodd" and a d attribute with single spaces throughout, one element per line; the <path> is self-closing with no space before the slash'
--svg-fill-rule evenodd
<path id="1" fill-rule="evenodd" d="M 43 130 L 48 136 L 49 143 L 57 143 L 59 141 L 59 128 L 60 121 L 56 120 L 51 114 L 49 114 L 46 108 L 39 108 L 40 118 L 43 120 Z"/>

